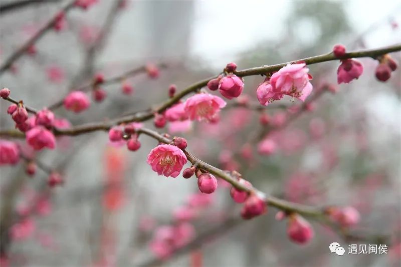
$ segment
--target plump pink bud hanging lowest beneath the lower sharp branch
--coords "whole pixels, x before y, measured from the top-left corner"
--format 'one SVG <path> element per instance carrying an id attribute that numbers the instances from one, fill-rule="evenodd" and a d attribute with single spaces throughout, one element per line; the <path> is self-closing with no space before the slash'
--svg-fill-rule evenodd
<path id="1" fill-rule="evenodd" d="M 314 235 L 309 222 L 298 214 L 289 216 L 287 234 L 292 241 L 299 244 L 306 244 Z"/>

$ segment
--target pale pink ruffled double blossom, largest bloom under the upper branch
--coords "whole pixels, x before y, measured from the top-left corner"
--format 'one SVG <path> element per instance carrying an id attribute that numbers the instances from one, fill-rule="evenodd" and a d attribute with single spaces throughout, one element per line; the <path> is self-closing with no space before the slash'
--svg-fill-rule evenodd
<path id="1" fill-rule="evenodd" d="M 298 98 L 301 101 L 312 92 L 311 76 L 305 63 L 287 64 L 270 78 L 274 92 Z"/>

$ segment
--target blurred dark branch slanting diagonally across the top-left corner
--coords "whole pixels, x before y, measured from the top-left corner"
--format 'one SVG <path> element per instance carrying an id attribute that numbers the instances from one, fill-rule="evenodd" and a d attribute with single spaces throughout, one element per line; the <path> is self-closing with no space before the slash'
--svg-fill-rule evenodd
<path id="1" fill-rule="evenodd" d="M 68 12 L 71 8 L 74 7 L 75 0 L 70 1 L 66 6 L 64 6 L 59 12 Z M 29 39 L 25 44 L 22 45 L 17 51 L 15 51 L 1 66 L 0 66 L 0 76 L 8 70 L 13 63 L 18 60 L 24 53 L 30 48 L 33 44 L 35 44 L 39 39 L 41 39 L 45 33 L 52 29 L 54 24 L 57 21 L 57 16 L 53 15 L 53 17 L 43 26 L 31 39 Z"/>

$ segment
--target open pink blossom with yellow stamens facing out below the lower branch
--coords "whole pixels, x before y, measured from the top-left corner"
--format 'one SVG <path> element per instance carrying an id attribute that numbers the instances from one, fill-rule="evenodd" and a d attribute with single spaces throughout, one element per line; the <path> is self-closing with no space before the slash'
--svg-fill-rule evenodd
<path id="1" fill-rule="evenodd" d="M 177 177 L 186 163 L 184 152 L 176 146 L 161 144 L 153 148 L 146 162 L 158 175 Z"/>

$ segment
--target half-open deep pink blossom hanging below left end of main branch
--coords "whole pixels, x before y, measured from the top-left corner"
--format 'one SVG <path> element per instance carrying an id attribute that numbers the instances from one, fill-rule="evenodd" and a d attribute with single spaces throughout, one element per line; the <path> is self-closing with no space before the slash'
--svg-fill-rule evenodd
<path id="1" fill-rule="evenodd" d="M 54 149 L 56 147 L 56 138 L 54 134 L 43 126 L 35 126 L 26 133 L 27 143 L 35 150 L 44 147 Z"/>

